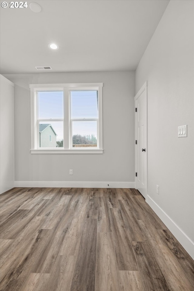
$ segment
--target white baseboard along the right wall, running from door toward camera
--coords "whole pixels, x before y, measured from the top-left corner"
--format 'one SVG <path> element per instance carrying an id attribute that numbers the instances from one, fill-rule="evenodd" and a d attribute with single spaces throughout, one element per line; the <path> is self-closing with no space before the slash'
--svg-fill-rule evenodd
<path id="1" fill-rule="evenodd" d="M 176 237 L 179 243 L 187 251 L 187 253 L 194 259 L 194 242 L 179 228 L 179 226 L 152 200 L 147 196 L 147 203 L 156 212 L 157 216 L 164 222 L 172 234 Z"/>

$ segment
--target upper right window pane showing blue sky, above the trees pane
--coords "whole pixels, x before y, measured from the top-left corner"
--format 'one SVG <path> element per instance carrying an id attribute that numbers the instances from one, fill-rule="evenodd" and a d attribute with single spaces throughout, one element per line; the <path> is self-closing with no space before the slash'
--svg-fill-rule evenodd
<path id="1" fill-rule="evenodd" d="M 71 91 L 71 118 L 98 118 L 98 91 Z"/>

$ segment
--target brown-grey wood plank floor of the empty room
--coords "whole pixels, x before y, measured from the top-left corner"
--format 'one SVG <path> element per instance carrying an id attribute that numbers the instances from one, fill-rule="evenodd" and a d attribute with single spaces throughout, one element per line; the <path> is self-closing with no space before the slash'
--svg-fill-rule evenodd
<path id="1" fill-rule="evenodd" d="M 135 189 L 0 196 L 0 291 L 193 291 L 194 261 Z"/>

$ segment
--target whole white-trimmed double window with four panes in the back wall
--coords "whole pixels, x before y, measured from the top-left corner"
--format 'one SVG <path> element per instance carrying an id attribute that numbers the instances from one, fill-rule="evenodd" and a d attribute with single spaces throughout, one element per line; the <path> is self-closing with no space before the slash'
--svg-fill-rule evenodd
<path id="1" fill-rule="evenodd" d="M 31 153 L 102 153 L 102 85 L 30 85 Z"/>

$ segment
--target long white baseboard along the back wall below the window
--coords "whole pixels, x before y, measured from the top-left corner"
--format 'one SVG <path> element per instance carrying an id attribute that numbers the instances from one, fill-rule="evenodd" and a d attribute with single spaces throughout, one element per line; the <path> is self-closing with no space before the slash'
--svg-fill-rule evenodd
<path id="1" fill-rule="evenodd" d="M 15 187 L 135 188 L 135 182 L 15 181 Z"/>

